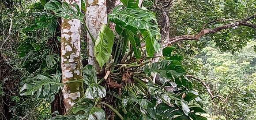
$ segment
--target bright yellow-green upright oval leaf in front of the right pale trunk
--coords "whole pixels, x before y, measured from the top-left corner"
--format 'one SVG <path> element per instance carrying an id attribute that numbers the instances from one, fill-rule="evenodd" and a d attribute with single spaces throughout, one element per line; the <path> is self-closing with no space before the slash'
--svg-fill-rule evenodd
<path id="1" fill-rule="evenodd" d="M 95 57 L 100 67 L 109 60 L 109 56 L 112 53 L 113 41 L 113 31 L 103 24 L 94 46 Z"/>

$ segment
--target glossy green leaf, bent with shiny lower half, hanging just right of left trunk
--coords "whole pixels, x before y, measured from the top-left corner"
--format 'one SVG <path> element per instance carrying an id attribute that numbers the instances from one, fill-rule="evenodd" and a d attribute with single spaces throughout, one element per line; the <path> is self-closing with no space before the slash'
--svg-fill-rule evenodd
<path id="1" fill-rule="evenodd" d="M 106 95 L 105 87 L 98 85 L 96 70 L 93 66 L 87 65 L 83 68 L 83 80 L 86 85 L 88 85 L 85 98 L 103 98 Z"/>

